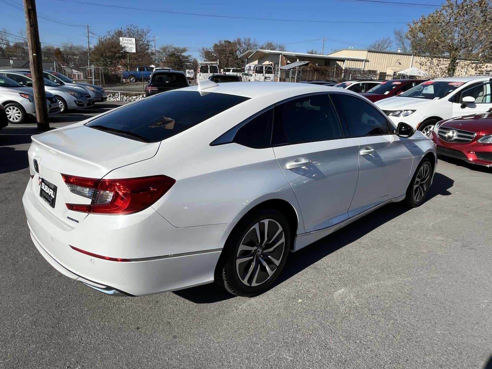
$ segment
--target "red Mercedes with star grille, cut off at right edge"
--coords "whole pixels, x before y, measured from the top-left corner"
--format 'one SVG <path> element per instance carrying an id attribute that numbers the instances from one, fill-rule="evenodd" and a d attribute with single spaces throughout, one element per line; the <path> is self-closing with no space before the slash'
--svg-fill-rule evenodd
<path id="1" fill-rule="evenodd" d="M 437 122 L 431 132 L 437 154 L 492 166 L 492 112 Z"/>

